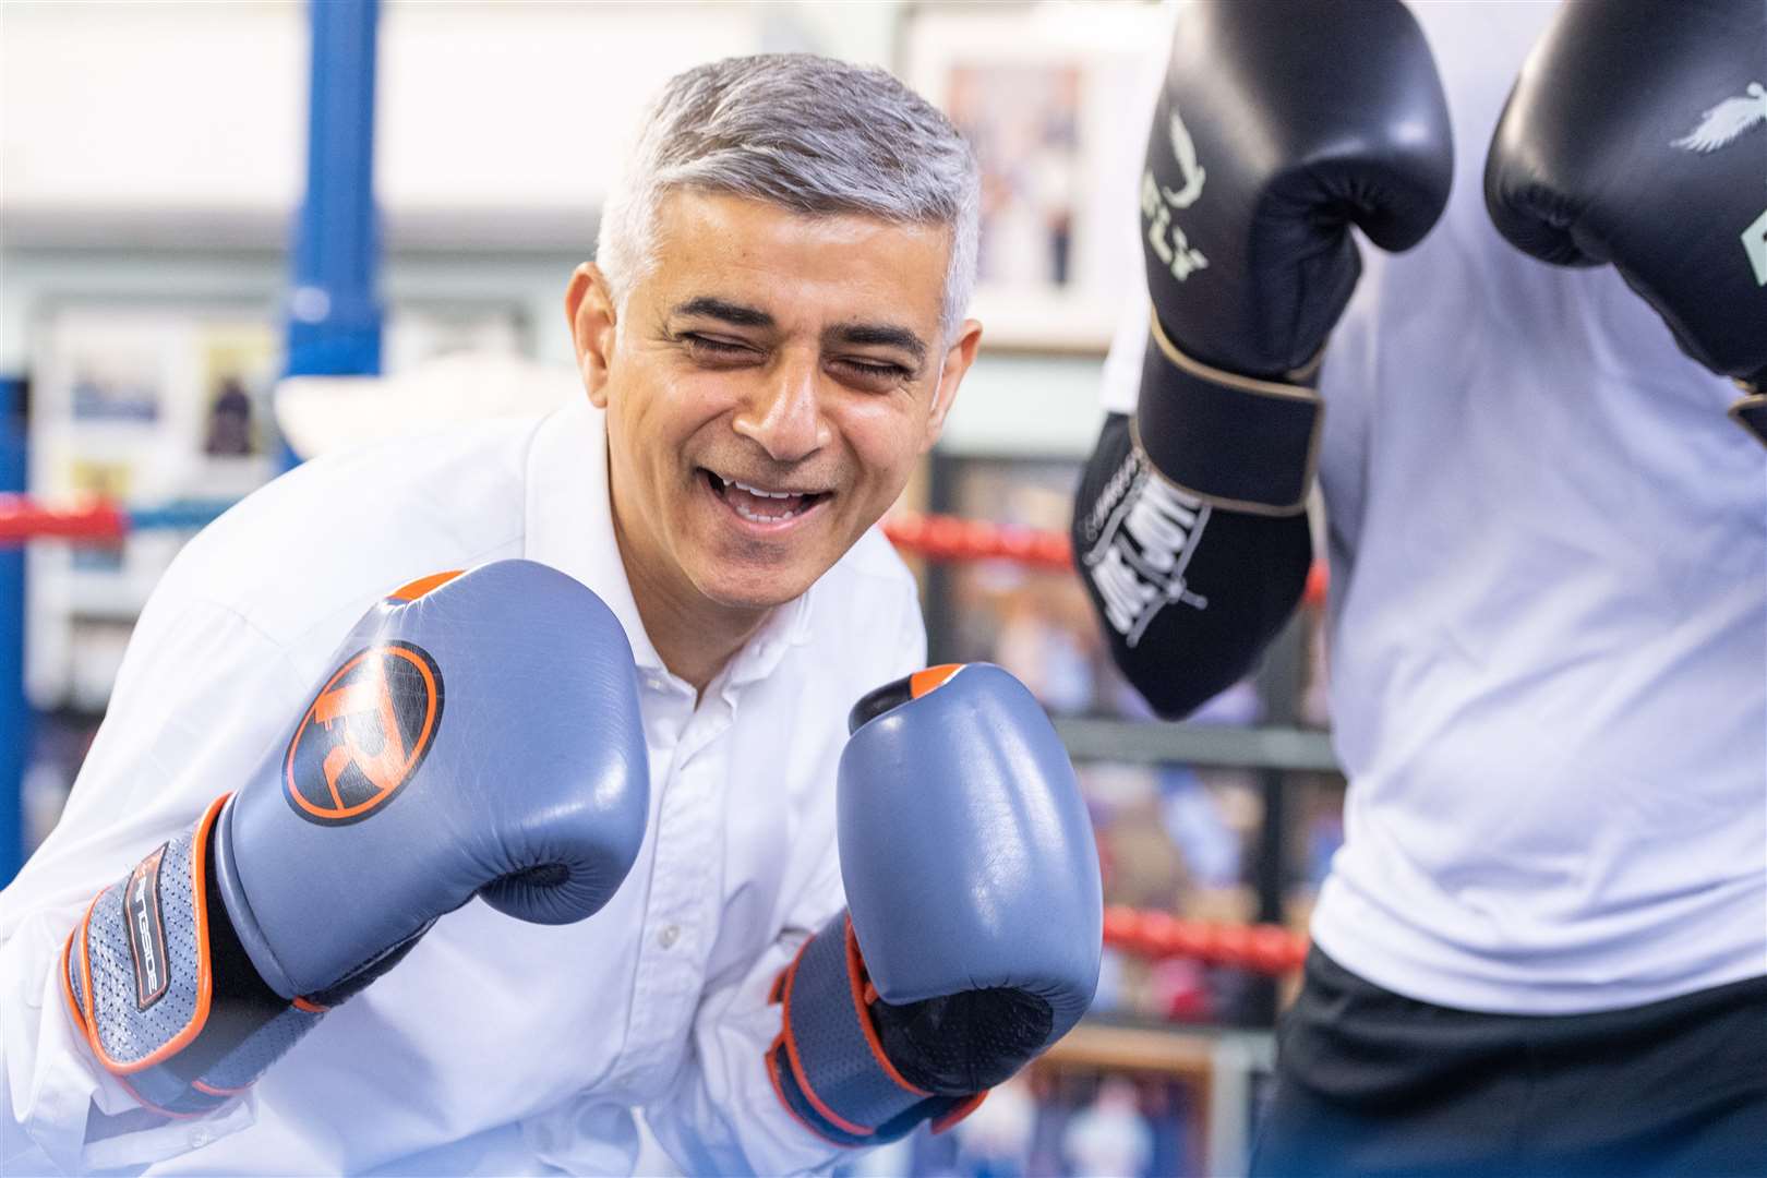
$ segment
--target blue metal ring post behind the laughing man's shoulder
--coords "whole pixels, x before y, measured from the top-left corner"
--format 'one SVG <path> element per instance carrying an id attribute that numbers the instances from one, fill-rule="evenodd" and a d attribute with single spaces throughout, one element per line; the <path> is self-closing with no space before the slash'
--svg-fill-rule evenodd
<path id="1" fill-rule="evenodd" d="M 380 373 L 380 226 L 375 215 L 378 0 L 309 0 L 313 92 L 307 194 L 293 244 L 288 376 Z M 297 459 L 286 452 L 284 464 Z"/>

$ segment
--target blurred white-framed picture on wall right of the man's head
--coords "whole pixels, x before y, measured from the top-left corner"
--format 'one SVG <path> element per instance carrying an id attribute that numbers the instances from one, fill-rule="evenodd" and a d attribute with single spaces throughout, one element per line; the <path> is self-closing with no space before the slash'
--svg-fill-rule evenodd
<path id="1" fill-rule="evenodd" d="M 981 164 L 982 346 L 1110 344 L 1141 281 L 1136 182 L 1163 28 L 1134 0 L 906 11 L 901 74 Z"/>

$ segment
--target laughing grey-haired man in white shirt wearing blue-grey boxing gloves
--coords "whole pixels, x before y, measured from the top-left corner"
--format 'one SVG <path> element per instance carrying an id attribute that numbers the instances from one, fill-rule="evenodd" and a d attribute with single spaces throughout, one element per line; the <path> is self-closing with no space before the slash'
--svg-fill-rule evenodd
<path id="1" fill-rule="evenodd" d="M 654 1171 L 640 1113 L 686 1171 L 792 1173 L 954 1120 L 1053 1042 L 1097 973 L 1071 768 L 1004 673 L 905 678 L 926 634 L 875 528 L 975 357 L 975 219 L 968 148 L 891 76 L 795 55 L 693 69 L 652 108 L 599 263 L 569 281 L 583 401 L 316 459 L 198 535 L 141 615 L 60 827 L 0 897 L 7 1174 Z M 486 576 L 426 576 L 486 562 L 534 593 L 466 608 Z M 541 669 L 535 643 L 571 650 L 576 618 L 537 638 L 511 618 L 557 572 L 604 602 L 629 659 L 610 638 L 604 664 Z M 444 599 L 454 613 L 424 613 Z M 364 608 L 413 618 L 394 645 L 419 671 L 426 616 L 452 618 L 438 650 L 534 659 L 498 666 L 527 712 L 488 721 L 442 657 L 408 726 L 419 680 L 350 671 L 387 629 L 334 653 Z M 585 698 L 608 706 L 565 703 Z M 316 802 L 304 731 L 325 754 Z M 535 915 L 562 880 L 544 848 L 583 805 L 555 777 L 585 759 L 610 761 L 595 804 L 626 807 L 633 837 L 592 848 L 585 904 Z M 838 779 L 843 807 L 871 807 L 853 830 Z M 364 781 L 378 793 L 357 804 Z M 539 858 L 511 862 L 511 807 Z M 419 818 L 452 832 L 440 850 L 398 835 Z M 838 827 L 843 851 L 889 841 L 843 862 Z M 138 860 L 117 908 L 101 888 Z M 486 902 L 382 911 L 373 881 L 408 895 L 461 871 L 489 880 Z M 279 892 L 307 908 L 270 952 Z M 108 904 L 129 915 L 110 955 Z M 396 918 L 415 933 L 371 936 L 320 994 L 265 964 Z M 155 1023 L 143 954 L 161 978 L 182 952 L 201 1000 Z M 118 1035 L 157 1047 L 120 1065 Z"/>

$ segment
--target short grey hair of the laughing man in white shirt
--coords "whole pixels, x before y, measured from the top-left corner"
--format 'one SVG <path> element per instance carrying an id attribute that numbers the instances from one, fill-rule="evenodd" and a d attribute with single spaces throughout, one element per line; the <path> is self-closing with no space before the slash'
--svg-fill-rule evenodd
<path id="1" fill-rule="evenodd" d="M 657 210 L 673 189 L 747 196 L 806 215 L 945 226 L 947 337 L 968 307 L 981 208 L 975 155 L 951 120 L 882 69 L 760 53 L 671 78 L 601 215 L 595 263 L 620 302 L 656 265 Z"/>

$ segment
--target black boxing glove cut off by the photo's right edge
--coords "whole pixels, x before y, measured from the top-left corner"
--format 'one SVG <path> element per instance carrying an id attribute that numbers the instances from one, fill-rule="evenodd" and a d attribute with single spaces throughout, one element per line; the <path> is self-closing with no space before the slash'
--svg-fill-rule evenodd
<path id="1" fill-rule="evenodd" d="M 1767 4 L 1564 5 L 1504 106 L 1484 203 L 1536 258 L 1613 263 L 1767 443 Z"/>

